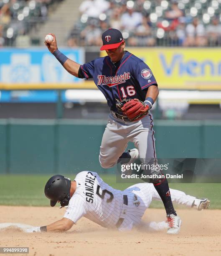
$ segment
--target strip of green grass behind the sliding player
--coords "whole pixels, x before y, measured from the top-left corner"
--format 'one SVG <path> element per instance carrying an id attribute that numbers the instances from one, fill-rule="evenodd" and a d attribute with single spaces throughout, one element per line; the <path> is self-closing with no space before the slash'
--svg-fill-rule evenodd
<path id="1" fill-rule="evenodd" d="M 74 177 L 74 175 L 67 175 Z M 105 182 L 116 189 L 125 189 L 132 184 L 116 183 L 115 175 L 101 175 Z M 48 206 L 44 186 L 51 175 L 0 175 L 0 205 Z M 221 184 L 195 183 L 170 184 L 188 195 L 208 197 L 211 209 L 221 209 Z M 151 207 L 163 208 L 162 202 L 152 202 Z"/>

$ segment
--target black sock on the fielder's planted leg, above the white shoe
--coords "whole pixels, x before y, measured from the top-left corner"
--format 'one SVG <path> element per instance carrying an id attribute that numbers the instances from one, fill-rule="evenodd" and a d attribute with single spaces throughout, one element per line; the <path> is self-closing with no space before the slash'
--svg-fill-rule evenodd
<path id="1" fill-rule="evenodd" d="M 165 181 L 161 184 L 154 184 L 154 187 L 157 190 L 157 193 L 159 194 L 160 198 L 163 201 L 167 215 L 168 214 L 177 215 L 173 208 L 173 202 L 171 200 L 170 189 L 169 189 L 167 179 L 165 179 Z"/>

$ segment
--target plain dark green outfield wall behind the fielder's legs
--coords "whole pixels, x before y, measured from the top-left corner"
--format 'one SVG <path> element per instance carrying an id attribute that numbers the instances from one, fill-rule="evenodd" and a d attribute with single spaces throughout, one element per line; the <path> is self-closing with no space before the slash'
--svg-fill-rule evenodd
<path id="1" fill-rule="evenodd" d="M 221 158 L 221 121 L 154 124 L 158 158 Z M 97 120 L 0 120 L 0 174 L 100 172 L 105 127 Z"/>

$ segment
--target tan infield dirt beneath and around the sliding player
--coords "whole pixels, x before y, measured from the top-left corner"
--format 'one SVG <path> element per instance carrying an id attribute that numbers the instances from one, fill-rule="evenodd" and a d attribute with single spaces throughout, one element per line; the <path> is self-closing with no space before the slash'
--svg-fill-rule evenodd
<path id="1" fill-rule="evenodd" d="M 64 211 L 58 207 L 0 206 L 0 223 L 43 226 L 62 218 Z M 82 218 L 65 233 L 1 230 L 0 246 L 29 247 L 29 254 L 23 255 L 30 256 L 221 255 L 221 210 L 180 209 L 178 214 L 183 223 L 180 234 L 174 236 L 166 230 L 122 233 Z M 143 220 L 165 220 L 165 210 L 147 209 Z"/>

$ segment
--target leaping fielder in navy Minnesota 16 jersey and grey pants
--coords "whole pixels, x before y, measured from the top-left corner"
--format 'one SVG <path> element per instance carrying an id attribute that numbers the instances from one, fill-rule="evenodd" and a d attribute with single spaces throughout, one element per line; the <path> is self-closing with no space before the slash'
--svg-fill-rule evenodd
<path id="1" fill-rule="evenodd" d="M 153 117 L 150 109 L 159 90 L 150 67 L 128 51 L 124 51 L 125 41 L 117 29 L 108 29 L 102 34 L 103 46 L 107 56 L 80 65 L 62 54 L 53 41 L 45 41 L 48 50 L 63 67 L 79 78 L 93 78 L 98 89 L 107 99 L 110 115 L 100 146 L 99 162 L 103 168 L 110 168 L 121 162 L 130 164 L 140 156 L 144 163 L 156 160 Z M 128 141 L 135 144 L 134 149 L 124 152 Z M 150 170 L 150 174 L 155 174 Z M 157 174 L 157 173 L 156 173 Z M 155 177 L 155 175 L 152 175 Z M 176 214 L 166 179 L 152 179 L 163 201 L 173 229 L 168 233 L 180 231 L 181 220 Z"/>

